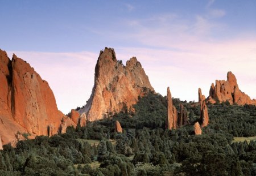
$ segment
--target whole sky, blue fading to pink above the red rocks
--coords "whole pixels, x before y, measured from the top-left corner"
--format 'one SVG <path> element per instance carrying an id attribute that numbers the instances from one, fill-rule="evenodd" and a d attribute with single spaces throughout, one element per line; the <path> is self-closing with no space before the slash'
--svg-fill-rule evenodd
<path id="1" fill-rule="evenodd" d="M 86 104 L 100 50 L 135 56 L 163 96 L 197 101 L 198 88 L 236 75 L 256 98 L 256 1 L 3 1 L 0 49 L 47 80 L 58 108 Z"/>

